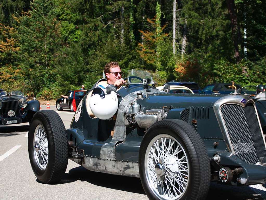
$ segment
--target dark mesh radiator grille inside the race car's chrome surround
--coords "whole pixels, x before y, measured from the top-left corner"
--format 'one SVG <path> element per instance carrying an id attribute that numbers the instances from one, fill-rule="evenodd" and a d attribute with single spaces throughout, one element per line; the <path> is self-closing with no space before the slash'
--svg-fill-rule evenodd
<path id="1" fill-rule="evenodd" d="M 248 164 L 265 163 L 265 145 L 252 103 L 246 107 L 226 104 L 221 113 L 234 154 Z"/>

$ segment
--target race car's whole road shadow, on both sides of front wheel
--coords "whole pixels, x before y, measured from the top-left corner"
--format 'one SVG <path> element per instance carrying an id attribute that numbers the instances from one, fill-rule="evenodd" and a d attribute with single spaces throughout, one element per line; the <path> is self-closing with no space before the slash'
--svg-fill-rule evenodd
<path id="1" fill-rule="evenodd" d="M 56 185 L 78 180 L 110 189 L 145 194 L 139 178 L 93 172 L 81 166 L 69 170 L 69 173 L 65 173 L 63 179 L 59 183 L 56 183 Z M 38 180 L 36 181 L 39 182 Z M 266 183 L 261 187 L 266 187 Z M 264 200 L 266 199 L 266 191 L 249 186 L 230 186 L 212 182 L 206 200 L 213 199 Z"/>

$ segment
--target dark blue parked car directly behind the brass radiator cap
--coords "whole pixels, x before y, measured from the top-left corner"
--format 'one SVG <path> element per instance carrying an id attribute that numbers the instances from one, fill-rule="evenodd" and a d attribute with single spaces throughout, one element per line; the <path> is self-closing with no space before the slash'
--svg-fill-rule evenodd
<path id="1" fill-rule="evenodd" d="M 242 88 L 241 85 L 239 84 L 235 84 L 234 85 L 236 86 L 236 89 L 240 89 Z M 230 94 L 230 93 L 234 93 L 234 89 L 230 88 L 229 86 L 232 86 L 232 83 L 215 83 L 215 84 L 209 84 L 209 85 L 206 85 L 202 91 L 203 93 L 205 94 L 211 94 L 213 93 L 214 91 L 218 91 L 218 93 L 220 94 Z"/>

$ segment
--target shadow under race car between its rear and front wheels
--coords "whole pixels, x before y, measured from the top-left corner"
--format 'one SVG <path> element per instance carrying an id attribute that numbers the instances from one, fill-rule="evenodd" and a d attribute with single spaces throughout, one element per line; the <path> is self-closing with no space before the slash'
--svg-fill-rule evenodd
<path id="1" fill-rule="evenodd" d="M 69 170 L 69 173 L 65 173 L 63 179 L 56 184 L 71 183 L 77 180 L 110 189 L 145 194 L 139 178 L 89 171 L 81 166 Z"/>

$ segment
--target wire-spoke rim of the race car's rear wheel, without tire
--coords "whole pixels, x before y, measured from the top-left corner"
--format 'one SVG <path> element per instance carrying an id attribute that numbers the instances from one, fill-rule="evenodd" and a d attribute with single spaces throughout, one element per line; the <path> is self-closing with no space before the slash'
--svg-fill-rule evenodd
<path id="1" fill-rule="evenodd" d="M 48 164 L 49 148 L 46 131 L 43 125 L 38 125 L 34 132 L 34 159 L 40 169 L 45 170 Z"/>

